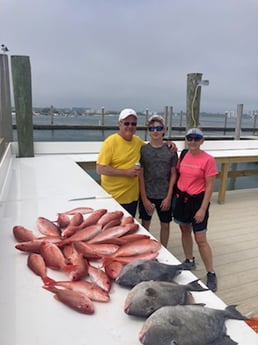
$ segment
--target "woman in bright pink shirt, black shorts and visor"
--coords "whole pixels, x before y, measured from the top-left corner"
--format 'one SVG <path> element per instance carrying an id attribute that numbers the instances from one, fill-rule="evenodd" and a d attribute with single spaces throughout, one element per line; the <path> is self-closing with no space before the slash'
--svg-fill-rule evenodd
<path id="1" fill-rule="evenodd" d="M 204 136 L 199 128 L 191 128 L 186 134 L 188 152 L 178 161 L 179 179 L 177 182 L 174 220 L 182 233 L 185 253 L 184 263 L 189 269 L 195 267 L 193 239 L 207 271 L 207 286 L 217 290 L 217 277 L 213 269 L 212 251 L 207 241 L 209 206 L 218 168 L 214 157 L 200 149 Z"/>

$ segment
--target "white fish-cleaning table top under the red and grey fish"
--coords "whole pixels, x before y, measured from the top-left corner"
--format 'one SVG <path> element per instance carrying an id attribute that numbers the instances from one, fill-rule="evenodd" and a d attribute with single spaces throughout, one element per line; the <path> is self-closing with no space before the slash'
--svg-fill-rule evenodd
<path id="1" fill-rule="evenodd" d="M 10 156 L 9 159 L 11 162 Z M 6 165 L 8 166 L 8 164 Z M 106 193 L 67 156 L 14 158 L 8 169 L 8 183 L 0 199 L 0 344 L 3 345 L 133 345 L 140 344 L 138 333 L 143 321 L 123 312 L 128 290 L 113 284 L 111 301 L 95 303 L 94 315 L 79 314 L 54 300 L 42 289 L 41 279 L 26 266 L 27 255 L 14 248 L 14 225 L 36 231 L 36 218 L 54 220 L 57 212 L 78 206 L 94 209 L 120 209 L 113 199 L 68 201 L 73 197 Z M 143 228 L 140 232 L 145 232 Z M 162 262 L 177 264 L 166 249 L 160 251 Z M 49 276 L 65 279 L 49 270 Z M 195 279 L 191 272 L 179 275 L 179 283 Z M 194 294 L 196 301 L 214 308 L 225 304 L 212 292 Z M 257 345 L 258 339 L 243 321 L 227 321 L 228 334 L 239 345 Z"/>

